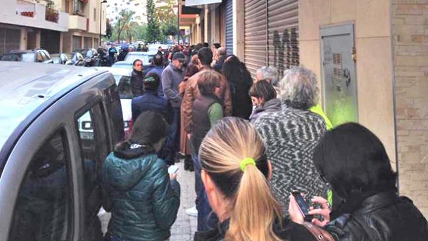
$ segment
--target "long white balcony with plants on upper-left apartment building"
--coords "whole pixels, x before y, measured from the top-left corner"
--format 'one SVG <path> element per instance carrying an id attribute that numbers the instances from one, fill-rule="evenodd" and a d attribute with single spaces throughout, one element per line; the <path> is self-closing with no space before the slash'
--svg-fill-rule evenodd
<path id="1" fill-rule="evenodd" d="M 31 0 L 2 0 L 0 22 L 54 31 L 68 31 L 69 14 Z"/>

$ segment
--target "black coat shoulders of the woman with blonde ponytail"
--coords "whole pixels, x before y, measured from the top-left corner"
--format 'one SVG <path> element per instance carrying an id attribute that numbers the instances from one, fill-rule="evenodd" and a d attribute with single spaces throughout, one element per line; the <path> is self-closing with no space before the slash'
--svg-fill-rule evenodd
<path id="1" fill-rule="evenodd" d="M 221 223 L 218 229 L 196 232 L 194 241 L 224 241 L 229 229 L 229 220 Z M 303 225 L 283 220 L 283 227 L 279 222 L 273 226 L 274 233 L 284 241 L 316 241 L 317 239 Z"/>

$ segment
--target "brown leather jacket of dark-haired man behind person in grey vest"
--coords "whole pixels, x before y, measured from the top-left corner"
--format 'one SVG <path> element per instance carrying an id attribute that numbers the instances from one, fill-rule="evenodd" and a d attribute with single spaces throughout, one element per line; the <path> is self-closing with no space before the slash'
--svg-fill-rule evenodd
<path id="1" fill-rule="evenodd" d="M 181 107 L 184 111 L 183 113 L 183 127 L 186 133 L 190 133 L 190 127 L 192 125 L 192 111 L 193 111 L 193 102 L 199 97 L 199 89 L 197 88 L 197 80 L 201 73 L 206 70 L 212 70 L 212 68 L 204 66 L 202 69 L 193 75 L 187 80 L 186 90 L 184 92 L 184 98 L 181 103 Z M 224 116 L 232 115 L 232 96 L 231 89 L 226 77 L 223 74 L 215 72 L 219 75 L 220 79 L 220 96 L 219 99 L 223 104 Z"/>

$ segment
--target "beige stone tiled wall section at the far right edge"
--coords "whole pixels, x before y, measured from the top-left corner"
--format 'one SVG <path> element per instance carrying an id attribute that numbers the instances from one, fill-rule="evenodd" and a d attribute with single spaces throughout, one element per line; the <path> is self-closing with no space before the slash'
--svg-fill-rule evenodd
<path id="1" fill-rule="evenodd" d="M 428 0 L 392 0 L 400 194 L 428 217 Z"/>

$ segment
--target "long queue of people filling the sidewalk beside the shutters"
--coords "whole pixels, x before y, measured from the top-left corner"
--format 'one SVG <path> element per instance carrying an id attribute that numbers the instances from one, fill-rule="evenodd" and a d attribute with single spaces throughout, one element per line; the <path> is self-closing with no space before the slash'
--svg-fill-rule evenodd
<path id="1" fill-rule="evenodd" d="M 195 172 L 195 241 L 428 239 L 383 144 L 357 123 L 333 128 L 312 71 L 262 67 L 253 80 L 208 43 L 152 61 L 146 72 L 134 62 L 131 135 L 103 168 L 110 240 L 170 238 L 180 185 L 168 167 L 181 158 Z"/>

